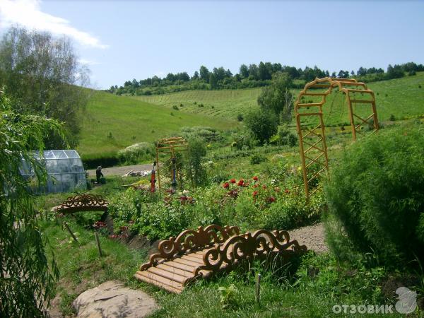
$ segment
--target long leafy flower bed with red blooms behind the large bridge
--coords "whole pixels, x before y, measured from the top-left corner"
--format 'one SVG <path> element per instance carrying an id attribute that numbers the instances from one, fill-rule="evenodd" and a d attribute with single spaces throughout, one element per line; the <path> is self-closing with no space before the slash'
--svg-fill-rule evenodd
<path id="1" fill-rule="evenodd" d="M 285 229 L 312 223 L 322 206 L 320 191 L 305 203 L 301 171 L 274 171 L 274 179 L 230 178 L 192 192 L 158 194 L 127 189 L 110 201 L 115 228 L 164 239 L 199 225 L 238 225 L 242 230 Z"/>

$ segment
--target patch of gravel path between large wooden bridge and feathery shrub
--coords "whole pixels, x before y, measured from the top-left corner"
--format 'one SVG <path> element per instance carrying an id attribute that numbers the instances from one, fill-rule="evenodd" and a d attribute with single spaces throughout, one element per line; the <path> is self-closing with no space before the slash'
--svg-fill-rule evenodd
<path id="1" fill-rule="evenodd" d="M 317 223 L 305 228 L 297 228 L 288 231 L 290 240 L 298 240 L 300 245 L 306 245 L 317 253 L 327 252 L 329 249 L 325 244 L 324 225 Z"/>

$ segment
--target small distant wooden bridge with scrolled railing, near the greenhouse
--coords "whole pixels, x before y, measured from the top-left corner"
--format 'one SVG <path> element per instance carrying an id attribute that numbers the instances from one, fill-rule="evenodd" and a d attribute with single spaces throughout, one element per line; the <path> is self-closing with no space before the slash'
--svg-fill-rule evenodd
<path id="1" fill-rule="evenodd" d="M 59 206 L 54 206 L 52 212 L 58 213 L 74 213 L 83 211 L 103 211 L 107 212 L 109 202 L 101 196 L 94 194 L 78 194 L 70 196 L 66 201 Z"/>

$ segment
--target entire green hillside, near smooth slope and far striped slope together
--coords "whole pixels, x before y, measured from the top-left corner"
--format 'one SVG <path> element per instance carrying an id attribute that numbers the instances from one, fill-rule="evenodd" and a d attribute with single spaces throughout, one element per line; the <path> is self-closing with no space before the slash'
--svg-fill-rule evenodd
<path id="1" fill-rule="evenodd" d="M 396 119 L 424 115 L 424 72 L 370 83 L 369 87 L 375 91 L 380 122 L 389 120 L 391 114 Z M 110 154 L 133 143 L 153 141 L 175 133 L 182 126 L 228 129 L 234 125 L 237 114 L 245 115 L 258 107 L 260 93 L 261 88 L 188 90 L 130 98 L 95 92 L 83 119 L 78 151 L 85 157 Z M 293 93 L 297 95 L 298 90 Z M 177 106 L 178 110 L 173 106 Z M 360 107 L 362 110 L 356 109 L 358 114 L 365 117 L 370 114 L 369 106 Z M 344 96 L 340 93 L 329 96 L 324 114 L 328 125 L 348 124 Z"/>

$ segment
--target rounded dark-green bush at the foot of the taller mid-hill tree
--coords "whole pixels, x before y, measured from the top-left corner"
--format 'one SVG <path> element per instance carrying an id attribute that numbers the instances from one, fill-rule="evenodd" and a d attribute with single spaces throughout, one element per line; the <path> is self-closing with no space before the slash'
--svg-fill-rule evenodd
<path id="1" fill-rule="evenodd" d="M 245 119 L 247 128 L 259 143 L 264 144 L 277 132 L 277 119 L 272 112 L 259 110 L 247 114 Z"/>

